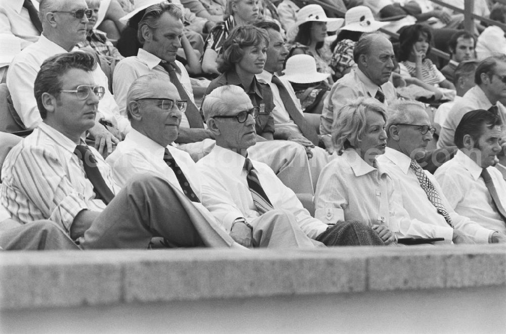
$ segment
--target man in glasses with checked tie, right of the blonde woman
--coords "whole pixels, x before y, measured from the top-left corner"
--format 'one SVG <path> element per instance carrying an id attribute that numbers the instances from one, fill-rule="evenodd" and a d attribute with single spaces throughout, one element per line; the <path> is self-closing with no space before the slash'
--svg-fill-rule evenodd
<path id="1" fill-rule="evenodd" d="M 399 227 L 401 235 L 444 238 L 446 243 L 466 243 L 468 238 L 477 243 L 504 242 L 497 230 L 455 212 L 434 176 L 414 160 L 427 153 L 434 131 L 422 103 L 397 101 L 389 106 L 388 147 L 377 161 L 392 176 L 399 203 L 411 218 L 410 224 Z"/>

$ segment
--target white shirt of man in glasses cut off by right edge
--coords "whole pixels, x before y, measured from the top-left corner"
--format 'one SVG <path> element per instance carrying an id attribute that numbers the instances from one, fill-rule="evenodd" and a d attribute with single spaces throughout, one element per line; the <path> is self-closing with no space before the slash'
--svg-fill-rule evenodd
<path id="1" fill-rule="evenodd" d="M 502 121 L 502 136 L 506 138 L 506 107 L 504 107 L 504 105 L 502 105 L 499 101 L 497 101 L 495 105 L 499 110 L 499 116 Z M 453 104 L 453 107 L 448 112 L 446 120 L 441 126 L 441 133 L 437 142 L 438 149 L 445 146 L 455 145 L 455 129 L 457 128 L 458 123 L 460 123 L 462 116 L 471 110 L 488 110 L 491 106 L 492 103 L 490 103 L 488 97 L 485 95 L 480 86 L 476 85 L 468 90 L 461 99 L 455 101 L 455 104 Z"/>

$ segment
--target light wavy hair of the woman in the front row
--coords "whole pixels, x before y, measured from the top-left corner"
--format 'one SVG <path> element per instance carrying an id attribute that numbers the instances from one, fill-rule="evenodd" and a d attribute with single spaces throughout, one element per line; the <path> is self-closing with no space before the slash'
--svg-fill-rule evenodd
<path id="1" fill-rule="evenodd" d="M 339 109 L 332 124 L 332 142 L 338 153 L 357 146 L 366 131 L 368 112 L 379 113 L 387 119 L 384 105 L 372 97 L 350 100 Z"/>

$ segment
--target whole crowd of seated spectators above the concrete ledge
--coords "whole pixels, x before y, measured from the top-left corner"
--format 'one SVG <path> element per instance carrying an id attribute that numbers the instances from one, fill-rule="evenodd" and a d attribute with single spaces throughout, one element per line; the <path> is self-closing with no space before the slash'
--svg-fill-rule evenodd
<path id="1" fill-rule="evenodd" d="M 506 5 L 321 2 L 0 0 L 0 248 L 506 243 Z"/>

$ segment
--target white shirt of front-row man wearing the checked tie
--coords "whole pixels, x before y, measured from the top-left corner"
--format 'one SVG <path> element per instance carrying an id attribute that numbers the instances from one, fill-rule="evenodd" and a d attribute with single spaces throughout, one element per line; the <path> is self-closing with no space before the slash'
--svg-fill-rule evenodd
<path id="1" fill-rule="evenodd" d="M 411 159 L 387 147 L 385 154 L 379 156 L 377 161 L 392 176 L 395 191 L 399 195 L 398 201 L 411 218 L 411 225 L 407 226 L 409 230 L 401 231 L 401 233 L 406 237 L 444 238 L 445 242 L 451 242 L 453 228 L 447 224 L 445 218 L 438 213 L 434 204 L 427 198 L 427 193 L 421 188 L 414 170 L 409 167 Z M 475 242 L 488 243 L 489 236 L 495 231 L 485 229 L 468 217 L 456 213 L 444 196 L 434 175 L 426 170 L 424 172 L 441 197 L 442 204 L 450 215 L 455 229 L 473 238 Z"/>

